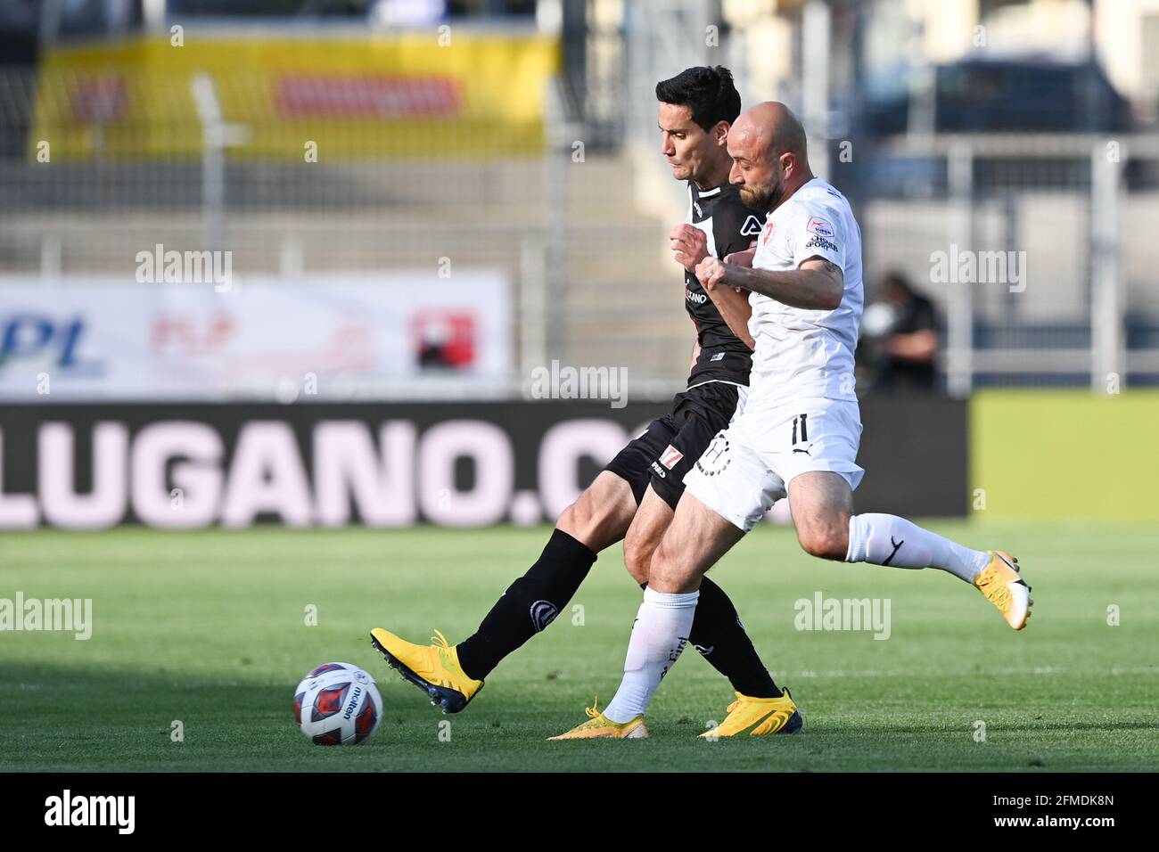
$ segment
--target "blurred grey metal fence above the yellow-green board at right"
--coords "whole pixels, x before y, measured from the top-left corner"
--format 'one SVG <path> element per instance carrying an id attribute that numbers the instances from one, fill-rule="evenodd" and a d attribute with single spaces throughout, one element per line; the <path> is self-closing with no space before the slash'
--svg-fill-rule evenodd
<path id="1" fill-rule="evenodd" d="M 1150 134 L 890 140 L 875 167 L 898 191 L 863 203 L 869 279 L 904 270 L 939 304 L 955 395 L 1157 384 L 1157 165 Z"/>

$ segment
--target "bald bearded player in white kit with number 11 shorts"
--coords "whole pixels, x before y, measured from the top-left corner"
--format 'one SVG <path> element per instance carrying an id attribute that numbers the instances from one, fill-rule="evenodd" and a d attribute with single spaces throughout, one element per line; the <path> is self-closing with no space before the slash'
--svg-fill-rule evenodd
<path id="1" fill-rule="evenodd" d="M 804 129 L 781 103 L 743 114 L 728 136 L 729 181 L 768 211 L 757 246 L 697 267 L 704 287 L 748 299 L 753 344 L 748 403 L 685 476 L 685 493 L 656 548 L 624 679 L 603 713 L 553 740 L 648 736 L 643 713 L 687 642 L 700 578 L 788 495 L 797 540 L 824 559 L 939 568 L 975 585 L 1014 629 L 1030 588 L 1003 551 L 975 551 L 895 515 L 853 514 L 861 417 L 854 394 L 863 291 L 861 232 L 845 197 L 809 169 Z M 737 693 L 724 721 L 701 736 L 795 733 L 801 714 L 780 698 Z"/>

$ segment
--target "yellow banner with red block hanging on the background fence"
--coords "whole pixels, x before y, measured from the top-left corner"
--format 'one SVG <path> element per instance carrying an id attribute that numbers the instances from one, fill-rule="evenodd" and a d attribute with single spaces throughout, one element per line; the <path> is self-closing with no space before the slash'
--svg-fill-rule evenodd
<path id="1" fill-rule="evenodd" d="M 189 158 L 202 151 L 190 92 L 213 79 L 223 117 L 245 125 L 235 159 L 460 159 L 544 148 L 544 93 L 559 44 L 455 31 L 364 37 L 184 35 L 58 48 L 42 60 L 28 143 L 53 159 Z"/>

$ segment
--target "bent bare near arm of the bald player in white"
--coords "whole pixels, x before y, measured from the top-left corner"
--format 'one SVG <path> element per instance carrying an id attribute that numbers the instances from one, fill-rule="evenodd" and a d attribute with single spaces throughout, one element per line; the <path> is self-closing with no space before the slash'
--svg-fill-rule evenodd
<path id="1" fill-rule="evenodd" d="M 709 284 L 724 284 L 804 311 L 836 311 L 845 294 L 841 268 L 824 257 L 810 257 L 796 269 L 785 271 L 745 268 L 707 257 L 697 267 L 697 278 L 705 290 Z"/>

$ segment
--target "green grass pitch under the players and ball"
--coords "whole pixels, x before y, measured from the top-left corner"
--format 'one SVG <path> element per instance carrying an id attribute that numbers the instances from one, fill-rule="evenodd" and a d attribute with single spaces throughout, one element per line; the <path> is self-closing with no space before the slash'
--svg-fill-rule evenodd
<path id="1" fill-rule="evenodd" d="M 88 641 L 0 633 L 0 770 L 1153 770 L 1159 765 L 1159 531 L 986 526 L 940 532 L 1020 556 L 1035 616 L 1019 634 L 960 581 L 822 562 L 760 529 L 713 571 L 778 683 L 799 736 L 698 740 L 731 699 L 694 651 L 665 678 L 643 742 L 547 743 L 612 696 L 640 590 L 620 549 L 574 604 L 444 716 L 371 649 L 371 627 L 469 634 L 547 530 L 122 529 L 0 538 L 0 597 L 93 598 Z M 891 636 L 794 628 L 811 598 L 891 602 Z M 305 607 L 318 607 L 306 626 Z M 1107 607 L 1121 625 L 1107 625 Z M 379 679 L 363 747 L 314 747 L 292 692 L 318 663 Z M 170 741 L 170 722 L 184 742 Z M 974 738 L 985 722 L 985 742 Z M 440 723 L 450 722 L 450 741 Z M 444 737 L 445 738 L 445 737 Z"/>

